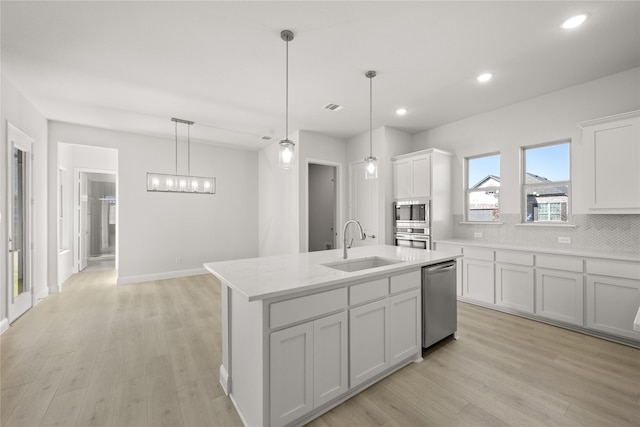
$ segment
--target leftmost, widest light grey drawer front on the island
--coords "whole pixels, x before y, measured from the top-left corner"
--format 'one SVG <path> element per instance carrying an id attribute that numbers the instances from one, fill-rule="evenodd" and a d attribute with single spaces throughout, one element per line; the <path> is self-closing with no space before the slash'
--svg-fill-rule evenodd
<path id="1" fill-rule="evenodd" d="M 346 288 L 276 302 L 269 307 L 269 326 L 275 329 L 346 307 Z"/>

